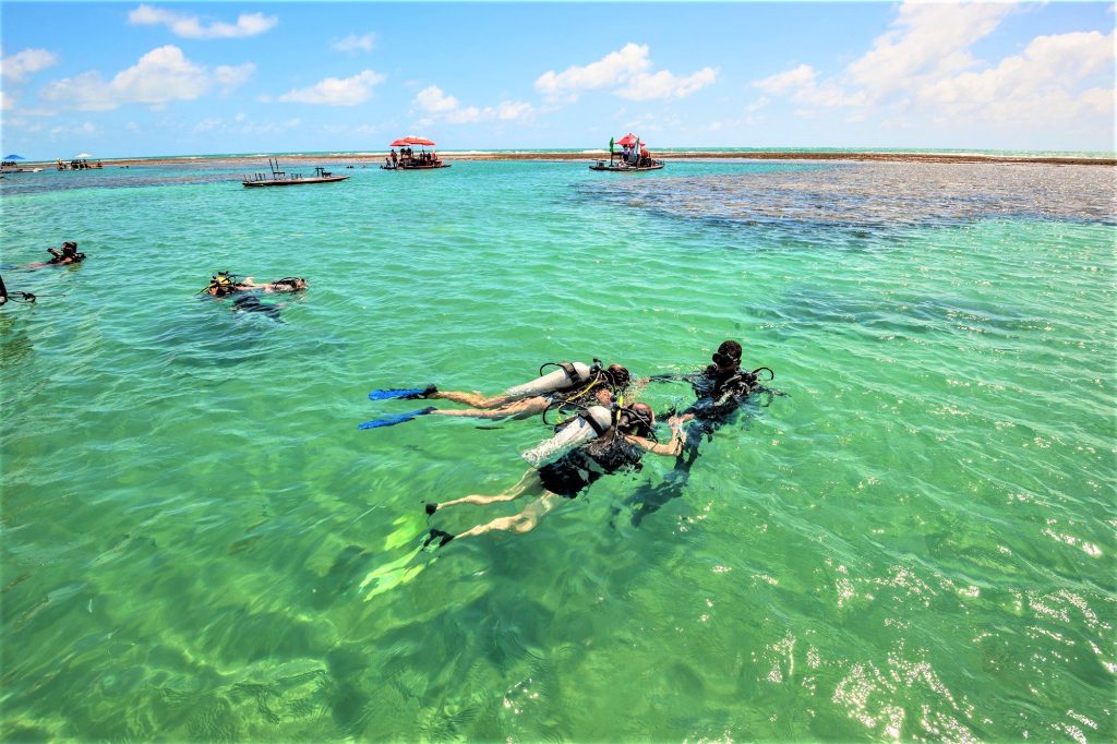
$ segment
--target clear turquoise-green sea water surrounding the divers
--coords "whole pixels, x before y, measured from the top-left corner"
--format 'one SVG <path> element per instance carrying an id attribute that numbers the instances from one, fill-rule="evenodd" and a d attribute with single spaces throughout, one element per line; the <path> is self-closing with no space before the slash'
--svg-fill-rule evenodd
<path id="1" fill-rule="evenodd" d="M 6 740 L 1117 735 L 1110 169 L 240 170 L 0 187 L 2 263 L 89 256 L 3 273 Z M 219 269 L 311 288 L 235 313 Z M 526 535 L 417 550 L 519 508 L 422 515 L 538 420 L 356 430 L 724 338 L 786 394 Z"/>

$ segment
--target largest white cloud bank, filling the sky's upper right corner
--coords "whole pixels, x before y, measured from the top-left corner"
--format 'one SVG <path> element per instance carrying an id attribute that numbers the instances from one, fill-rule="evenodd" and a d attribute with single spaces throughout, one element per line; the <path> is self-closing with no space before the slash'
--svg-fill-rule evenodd
<path id="1" fill-rule="evenodd" d="M 1114 34 L 1033 38 L 1021 54 L 992 63 L 971 48 L 1013 11 L 1011 4 L 905 2 L 889 30 L 841 75 L 821 79 L 809 65 L 755 80 L 800 104 L 796 115 L 851 107 L 847 121 L 1039 130 L 1085 124 L 1113 132 Z M 1088 120 L 1088 121 L 1087 121 Z"/>

